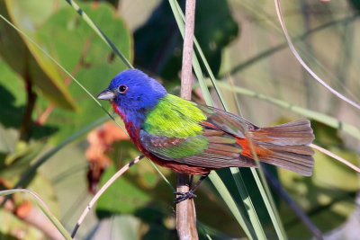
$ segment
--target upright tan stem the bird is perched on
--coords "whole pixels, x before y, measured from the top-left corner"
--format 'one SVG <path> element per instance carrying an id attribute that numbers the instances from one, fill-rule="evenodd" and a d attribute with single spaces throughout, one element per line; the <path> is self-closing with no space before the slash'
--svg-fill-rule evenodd
<path id="1" fill-rule="evenodd" d="M 181 72 L 181 97 L 190 100 L 193 78 L 193 28 L 196 0 L 186 0 L 183 67 Z M 190 179 L 186 174 L 177 173 L 177 191 L 189 191 Z M 180 240 L 198 239 L 196 211 L 193 199 L 176 204 L 176 229 Z"/>

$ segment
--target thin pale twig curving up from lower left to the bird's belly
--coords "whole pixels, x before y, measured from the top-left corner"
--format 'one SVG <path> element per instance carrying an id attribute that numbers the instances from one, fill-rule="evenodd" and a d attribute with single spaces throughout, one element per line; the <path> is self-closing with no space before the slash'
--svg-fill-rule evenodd
<path id="1" fill-rule="evenodd" d="M 131 165 L 137 164 L 143 157 L 144 157 L 143 155 L 139 155 L 139 156 L 135 157 L 134 159 L 132 159 L 130 161 L 130 163 L 125 164 L 117 173 L 112 175 L 112 178 L 109 179 L 99 191 L 96 192 L 96 194 L 94 195 L 94 198 L 89 202 L 89 204 L 87 204 L 85 210 L 83 211 L 83 214 L 81 214 L 80 218 L 77 220 L 76 226 L 74 227 L 74 230 L 71 234 L 72 238 L 74 238 L 74 236 L 76 235 L 77 229 L 80 227 L 81 223 L 84 221 L 84 219 L 85 219 L 86 215 L 89 213 L 90 209 L 92 209 L 94 207 L 95 202 L 97 200 L 99 200 L 101 195 L 103 195 L 103 192 L 106 191 L 112 185 L 112 183 L 115 182 L 116 179 L 118 179 L 122 175 L 122 173 L 125 173 L 126 171 L 128 171 Z"/>

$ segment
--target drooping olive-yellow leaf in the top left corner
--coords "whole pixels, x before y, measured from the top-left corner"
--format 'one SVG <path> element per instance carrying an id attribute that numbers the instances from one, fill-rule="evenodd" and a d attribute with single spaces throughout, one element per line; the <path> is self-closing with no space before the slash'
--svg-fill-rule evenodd
<path id="1" fill-rule="evenodd" d="M 41 7 L 41 13 L 30 16 L 29 7 L 33 9 L 34 5 L 29 4 L 28 1 L 6 0 L 0 3 L 0 13 L 6 19 L 11 19 L 15 26 L 33 40 L 37 40 L 36 31 L 39 21 L 41 19 L 43 21 L 52 12 L 52 9 Z M 36 25 L 31 18 L 34 15 L 37 16 Z M 40 18 L 40 16 L 44 17 Z M 0 34 L 2 36 L 0 39 L 0 56 L 14 71 L 22 76 L 24 81 L 30 81 L 34 84 L 49 101 L 65 109 L 75 109 L 76 103 L 68 93 L 64 79 L 58 73 L 58 67 L 32 45 L 30 40 L 23 35 L 19 36 L 19 33 L 3 20 L 0 21 Z"/>

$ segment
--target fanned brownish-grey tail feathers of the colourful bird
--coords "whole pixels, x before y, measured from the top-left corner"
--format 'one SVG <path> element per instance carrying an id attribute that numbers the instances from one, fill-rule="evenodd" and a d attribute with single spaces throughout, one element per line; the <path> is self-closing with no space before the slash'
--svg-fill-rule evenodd
<path id="1" fill-rule="evenodd" d="M 314 151 L 308 145 L 314 139 L 310 120 L 296 120 L 275 127 L 261 128 L 249 132 L 254 143 L 268 150 L 259 156 L 266 164 L 274 164 L 310 176 Z"/>

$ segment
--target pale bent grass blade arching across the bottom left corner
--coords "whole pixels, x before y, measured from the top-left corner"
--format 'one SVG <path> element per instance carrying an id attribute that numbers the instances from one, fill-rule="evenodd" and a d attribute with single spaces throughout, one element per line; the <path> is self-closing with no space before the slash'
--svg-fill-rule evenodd
<path id="1" fill-rule="evenodd" d="M 4 190 L 4 191 L 0 191 L 0 196 L 8 196 L 10 194 L 14 194 L 15 192 L 25 192 L 25 193 L 29 193 L 31 195 L 31 197 L 33 198 L 33 200 L 35 200 L 36 204 L 39 206 L 39 208 L 41 209 L 41 211 L 46 215 L 46 217 L 49 218 L 49 220 L 51 221 L 51 223 L 58 228 L 58 231 L 61 233 L 62 236 L 65 237 L 65 239 L 70 240 L 72 239 L 71 236 L 67 233 L 67 230 L 65 229 L 65 227 L 63 227 L 61 225 L 61 223 L 58 221 L 58 218 L 56 218 L 52 212 L 50 211 L 49 207 L 46 205 L 46 203 L 41 200 L 41 198 L 39 197 L 38 194 L 36 194 L 33 191 L 29 191 L 26 189 L 12 189 L 12 190 Z"/>

